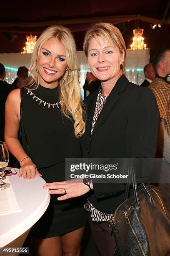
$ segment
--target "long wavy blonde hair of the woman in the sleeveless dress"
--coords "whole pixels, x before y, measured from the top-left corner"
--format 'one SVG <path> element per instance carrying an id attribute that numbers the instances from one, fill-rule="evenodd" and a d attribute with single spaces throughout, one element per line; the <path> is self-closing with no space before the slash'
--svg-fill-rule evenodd
<path id="1" fill-rule="evenodd" d="M 30 64 L 30 82 L 28 84 L 31 90 L 39 86 L 39 78 L 36 69 L 36 61 L 40 56 L 40 49 L 50 38 L 57 38 L 65 46 L 67 69 L 60 77 L 60 101 L 62 102 L 61 111 L 67 118 L 73 119 L 76 138 L 82 136 L 85 132 L 85 107 L 82 103 L 80 86 L 78 81 L 78 60 L 76 46 L 73 36 L 68 28 L 62 26 L 51 26 L 46 28 L 38 38 L 32 53 Z"/>

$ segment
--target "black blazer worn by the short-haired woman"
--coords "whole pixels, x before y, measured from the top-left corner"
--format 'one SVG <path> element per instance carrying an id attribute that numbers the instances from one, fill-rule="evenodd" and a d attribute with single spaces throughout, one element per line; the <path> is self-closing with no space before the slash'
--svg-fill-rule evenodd
<path id="1" fill-rule="evenodd" d="M 159 110 L 149 88 L 122 75 L 110 92 L 90 139 L 98 90 L 86 100 L 86 130 L 80 139 L 83 158 L 154 158 L 159 131 Z M 93 184 L 90 202 L 113 213 L 123 202 L 125 184 Z"/>

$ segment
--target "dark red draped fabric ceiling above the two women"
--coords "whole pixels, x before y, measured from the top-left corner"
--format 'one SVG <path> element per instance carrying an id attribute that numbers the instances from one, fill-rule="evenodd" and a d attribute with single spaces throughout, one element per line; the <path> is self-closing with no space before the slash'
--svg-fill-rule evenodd
<path id="1" fill-rule="evenodd" d="M 56 24 L 70 28 L 74 33 L 77 49 L 82 50 L 85 31 L 97 21 L 110 22 L 120 28 L 129 48 L 133 28 L 137 25 L 135 20 L 139 20 L 144 34 L 159 37 L 158 41 L 147 39 L 150 48 L 168 47 L 169 7 L 170 0 L 51 0 L 44 3 L 3 1 L 0 13 L 0 53 L 20 52 L 26 34 L 32 33 L 38 37 L 47 26 Z M 156 28 L 156 32 L 151 32 L 150 24 L 155 23 L 161 24 L 162 27 Z M 161 38 L 164 41 L 163 46 L 154 46 L 155 41 L 158 43 Z"/>

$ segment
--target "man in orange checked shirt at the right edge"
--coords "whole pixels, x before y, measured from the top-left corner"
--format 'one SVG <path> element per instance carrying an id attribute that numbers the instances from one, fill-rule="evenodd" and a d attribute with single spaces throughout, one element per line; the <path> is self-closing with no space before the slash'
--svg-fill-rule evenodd
<path id="1" fill-rule="evenodd" d="M 170 214 L 170 48 L 158 51 L 153 59 L 156 79 L 149 88 L 153 91 L 160 111 L 158 157 L 163 158 L 161 175 L 167 183 L 159 184 L 166 208 Z M 166 166 L 166 168 L 165 168 Z"/>

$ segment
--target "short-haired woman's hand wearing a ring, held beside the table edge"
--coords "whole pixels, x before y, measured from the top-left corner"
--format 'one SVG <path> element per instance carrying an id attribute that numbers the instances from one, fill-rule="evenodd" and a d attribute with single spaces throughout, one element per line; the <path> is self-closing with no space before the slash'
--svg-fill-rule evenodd
<path id="1" fill-rule="evenodd" d="M 51 195 L 62 195 L 57 200 L 66 200 L 72 197 L 79 197 L 89 192 L 89 187 L 82 182 L 82 179 L 70 179 L 64 182 L 46 183 L 43 189 L 49 189 Z"/>

